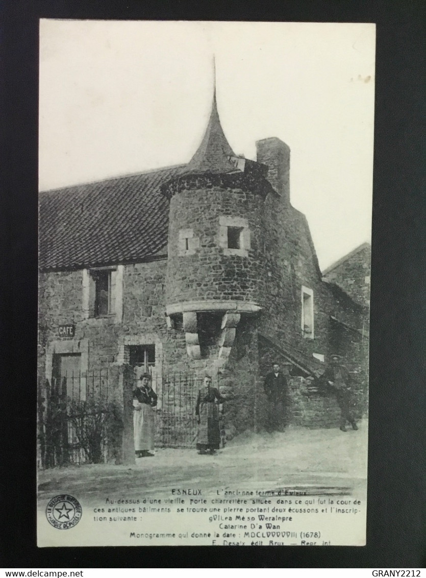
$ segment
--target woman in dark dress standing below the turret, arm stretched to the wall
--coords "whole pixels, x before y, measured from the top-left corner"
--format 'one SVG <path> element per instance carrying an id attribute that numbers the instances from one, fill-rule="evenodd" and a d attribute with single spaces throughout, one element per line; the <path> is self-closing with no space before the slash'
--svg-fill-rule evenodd
<path id="1" fill-rule="evenodd" d="M 218 450 L 221 443 L 221 430 L 219 428 L 219 407 L 225 398 L 219 394 L 216 388 L 211 387 L 211 377 L 204 377 L 204 385 L 198 392 L 196 416 L 197 416 L 197 450 L 199 454 L 210 451 L 211 454 Z"/>

